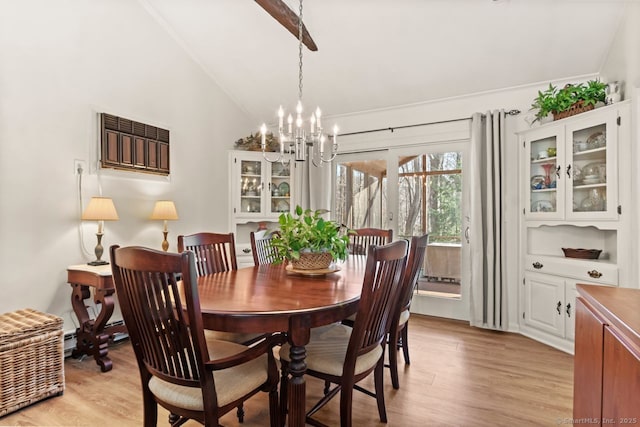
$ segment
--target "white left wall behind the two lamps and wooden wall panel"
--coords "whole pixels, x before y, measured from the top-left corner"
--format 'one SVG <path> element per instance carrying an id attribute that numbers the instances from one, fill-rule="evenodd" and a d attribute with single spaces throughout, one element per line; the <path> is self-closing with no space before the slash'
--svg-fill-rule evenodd
<path id="1" fill-rule="evenodd" d="M 180 215 L 170 250 L 178 234 L 227 230 L 226 151 L 253 123 L 140 4 L 2 0 L 0 313 L 31 307 L 75 328 L 65 269 L 91 260 L 97 225 L 79 225 L 73 161 L 96 159 L 103 111 L 168 128 L 172 172 L 98 175 L 92 164 L 85 206 L 101 188 L 120 215 L 106 223 L 106 249 L 160 249 L 162 224 L 148 220 L 157 199 L 173 199 Z"/>

